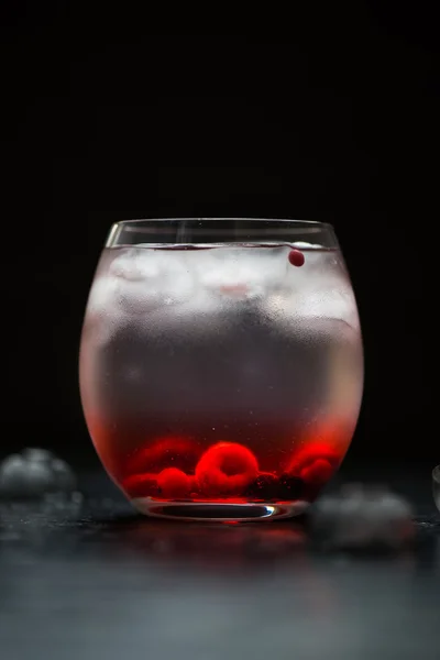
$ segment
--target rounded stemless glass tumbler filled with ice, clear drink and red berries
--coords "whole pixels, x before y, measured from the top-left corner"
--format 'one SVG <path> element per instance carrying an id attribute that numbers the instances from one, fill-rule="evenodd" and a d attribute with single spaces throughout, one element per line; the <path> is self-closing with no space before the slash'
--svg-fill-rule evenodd
<path id="1" fill-rule="evenodd" d="M 339 468 L 363 389 L 333 229 L 253 219 L 113 226 L 90 290 L 80 392 L 113 481 L 144 514 L 302 513 Z"/>

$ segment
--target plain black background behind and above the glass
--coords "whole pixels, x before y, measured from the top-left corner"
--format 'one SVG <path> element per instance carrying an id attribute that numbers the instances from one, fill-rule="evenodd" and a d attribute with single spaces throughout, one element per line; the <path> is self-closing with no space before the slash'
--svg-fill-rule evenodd
<path id="1" fill-rule="evenodd" d="M 244 216 L 336 227 L 365 341 L 348 460 L 438 462 L 435 14 L 352 4 L 243 33 L 2 4 L 1 454 L 98 466 L 77 354 L 113 221 Z"/>

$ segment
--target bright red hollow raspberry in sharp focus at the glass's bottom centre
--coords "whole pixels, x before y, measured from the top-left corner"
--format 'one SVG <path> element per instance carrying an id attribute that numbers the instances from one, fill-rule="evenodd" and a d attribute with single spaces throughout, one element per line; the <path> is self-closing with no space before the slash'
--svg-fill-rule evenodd
<path id="1" fill-rule="evenodd" d="M 238 442 L 210 447 L 196 466 L 196 477 L 207 495 L 242 493 L 257 474 L 256 458 Z"/>

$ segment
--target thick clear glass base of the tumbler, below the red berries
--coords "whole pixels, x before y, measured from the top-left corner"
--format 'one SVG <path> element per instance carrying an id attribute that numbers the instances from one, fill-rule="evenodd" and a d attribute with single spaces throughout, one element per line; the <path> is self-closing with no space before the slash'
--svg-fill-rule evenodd
<path id="1" fill-rule="evenodd" d="M 146 516 L 200 522 L 257 522 L 299 516 L 308 502 L 228 504 L 217 502 L 158 502 L 150 497 L 131 499 Z"/>

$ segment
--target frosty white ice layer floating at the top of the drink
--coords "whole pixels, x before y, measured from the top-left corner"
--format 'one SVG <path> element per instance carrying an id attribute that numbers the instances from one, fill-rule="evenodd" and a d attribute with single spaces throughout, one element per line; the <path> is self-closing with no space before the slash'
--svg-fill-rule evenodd
<path id="1" fill-rule="evenodd" d="M 130 248 L 107 255 L 92 284 L 87 318 L 97 322 L 101 343 L 133 317 L 164 314 L 172 322 L 219 312 L 230 301 L 255 300 L 282 323 L 293 319 L 336 319 L 358 329 L 351 283 L 334 252 L 296 242 L 308 250 L 307 268 L 292 268 L 292 245 L 211 250 Z M 178 306 L 176 312 L 172 312 Z M 168 311 L 170 314 L 168 314 Z M 102 322 L 101 322 L 102 320 Z M 91 326 L 90 326 L 91 327 Z"/>

